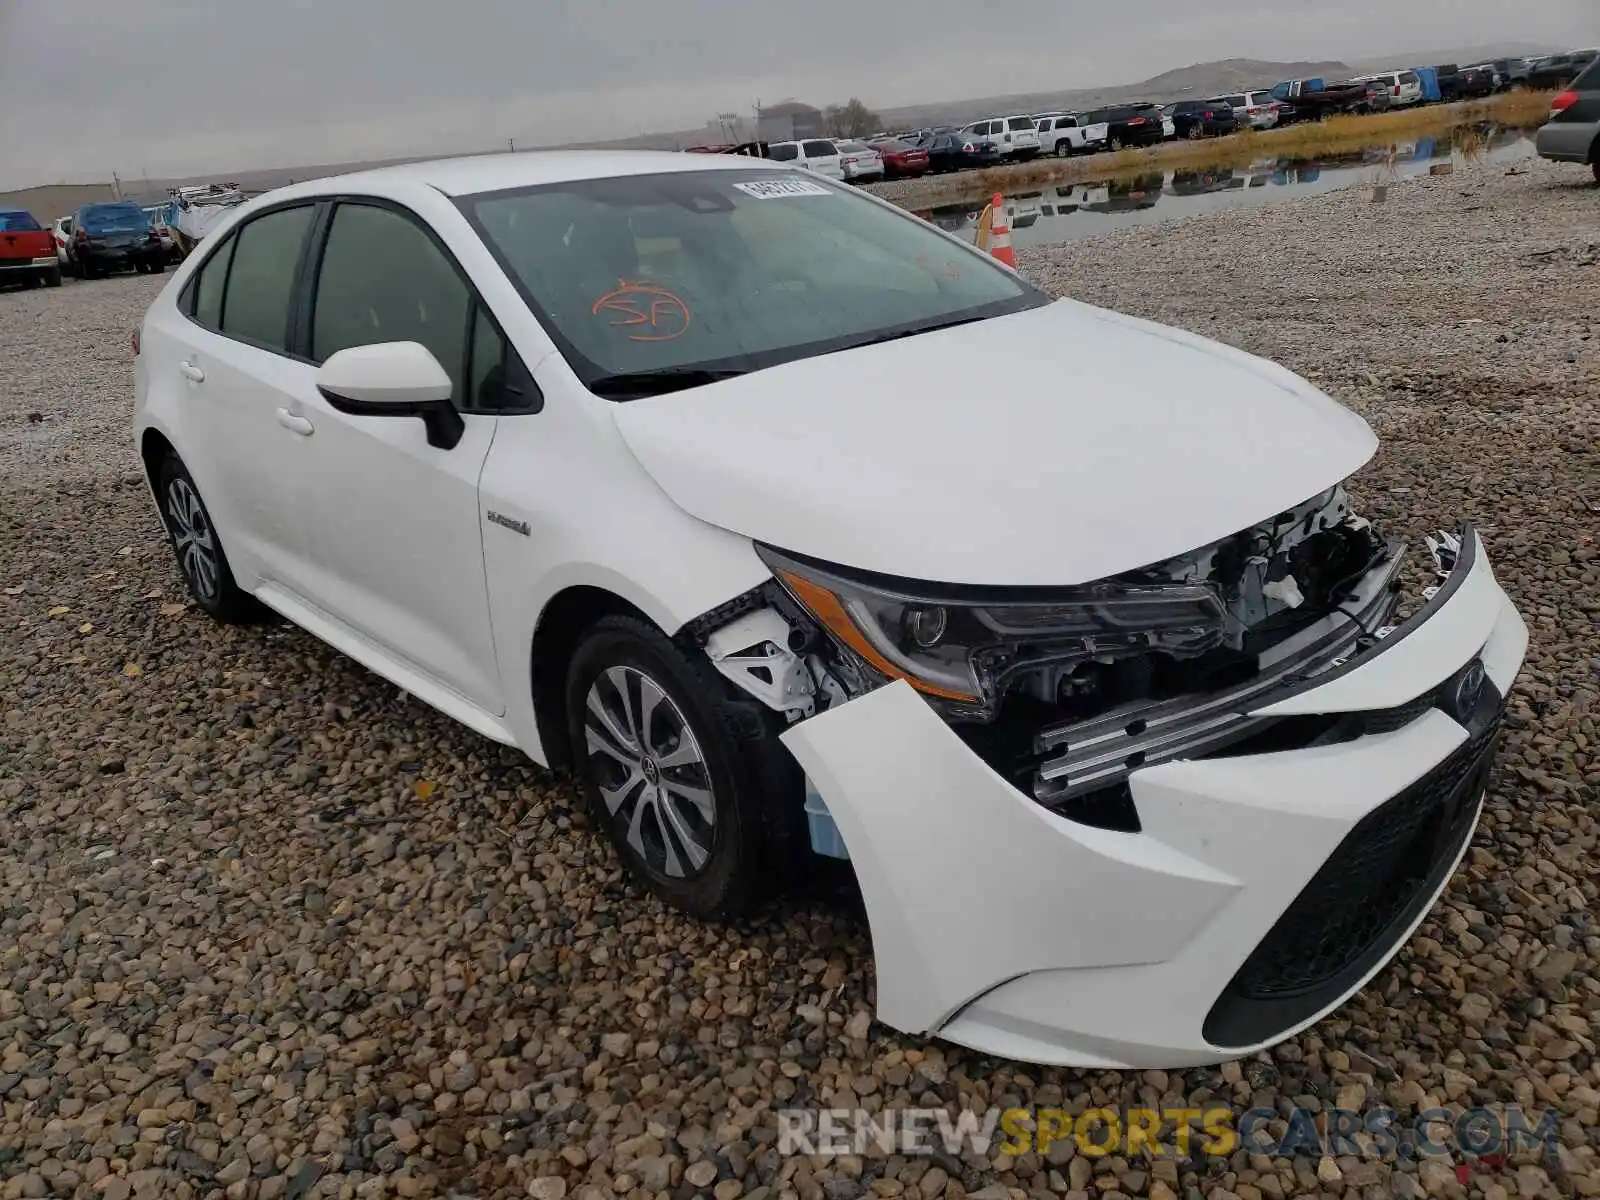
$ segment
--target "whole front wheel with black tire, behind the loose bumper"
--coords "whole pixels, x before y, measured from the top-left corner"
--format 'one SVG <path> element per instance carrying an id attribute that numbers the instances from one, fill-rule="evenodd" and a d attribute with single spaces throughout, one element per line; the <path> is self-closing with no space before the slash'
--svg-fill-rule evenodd
<path id="1" fill-rule="evenodd" d="M 629 872 L 693 917 L 744 912 L 803 816 L 776 714 L 634 616 L 584 635 L 566 712 L 590 818 Z"/>

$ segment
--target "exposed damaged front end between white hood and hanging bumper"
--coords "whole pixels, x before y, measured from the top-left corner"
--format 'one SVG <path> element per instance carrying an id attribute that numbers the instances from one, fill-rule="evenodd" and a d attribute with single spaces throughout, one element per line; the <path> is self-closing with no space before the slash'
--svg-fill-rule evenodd
<path id="1" fill-rule="evenodd" d="M 782 587 L 709 614 L 698 640 L 790 720 L 906 680 L 1024 794 L 1136 830 L 1136 770 L 1339 736 L 1338 715 L 1251 714 L 1389 632 L 1403 554 L 1350 510 L 1342 486 L 1064 589 L 923 584 L 762 547 Z"/>

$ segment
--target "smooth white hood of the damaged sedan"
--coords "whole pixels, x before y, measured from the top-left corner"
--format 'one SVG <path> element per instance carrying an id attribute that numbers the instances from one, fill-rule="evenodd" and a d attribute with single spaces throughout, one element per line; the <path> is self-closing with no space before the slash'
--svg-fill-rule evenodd
<path id="1" fill-rule="evenodd" d="M 1066 586 L 1339 483 L 1358 416 L 1240 350 L 1077 301 L 614 406 L 694 517 L 843 566 Z"/>

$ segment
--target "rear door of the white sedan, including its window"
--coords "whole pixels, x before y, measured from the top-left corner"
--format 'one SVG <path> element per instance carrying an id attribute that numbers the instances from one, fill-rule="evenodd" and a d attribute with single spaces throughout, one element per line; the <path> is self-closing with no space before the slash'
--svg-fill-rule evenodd
<path id="1" fill-rule="evenodd" d="M 312 368 L 290 350 L 294 278 L 314 203 L 251 218 L 218 245 L 179 296 L 176 344 L 146 344 L 150 387 L 176 389 L 179 456 L 222 533 L 234 574 L 301 589 L 301 438 L 285 426 Z"/>

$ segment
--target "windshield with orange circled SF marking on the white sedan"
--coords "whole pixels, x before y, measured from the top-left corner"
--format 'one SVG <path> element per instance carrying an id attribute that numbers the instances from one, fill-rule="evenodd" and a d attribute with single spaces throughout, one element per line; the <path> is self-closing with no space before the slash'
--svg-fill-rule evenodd
<path id="1" fill-rule="evenodd" d="M 701 382 L 1050 302 L 917 218 L 794 171 L 458 203 L 584 384 L 614 398 L 667 390 L 640 376 Z"/>

